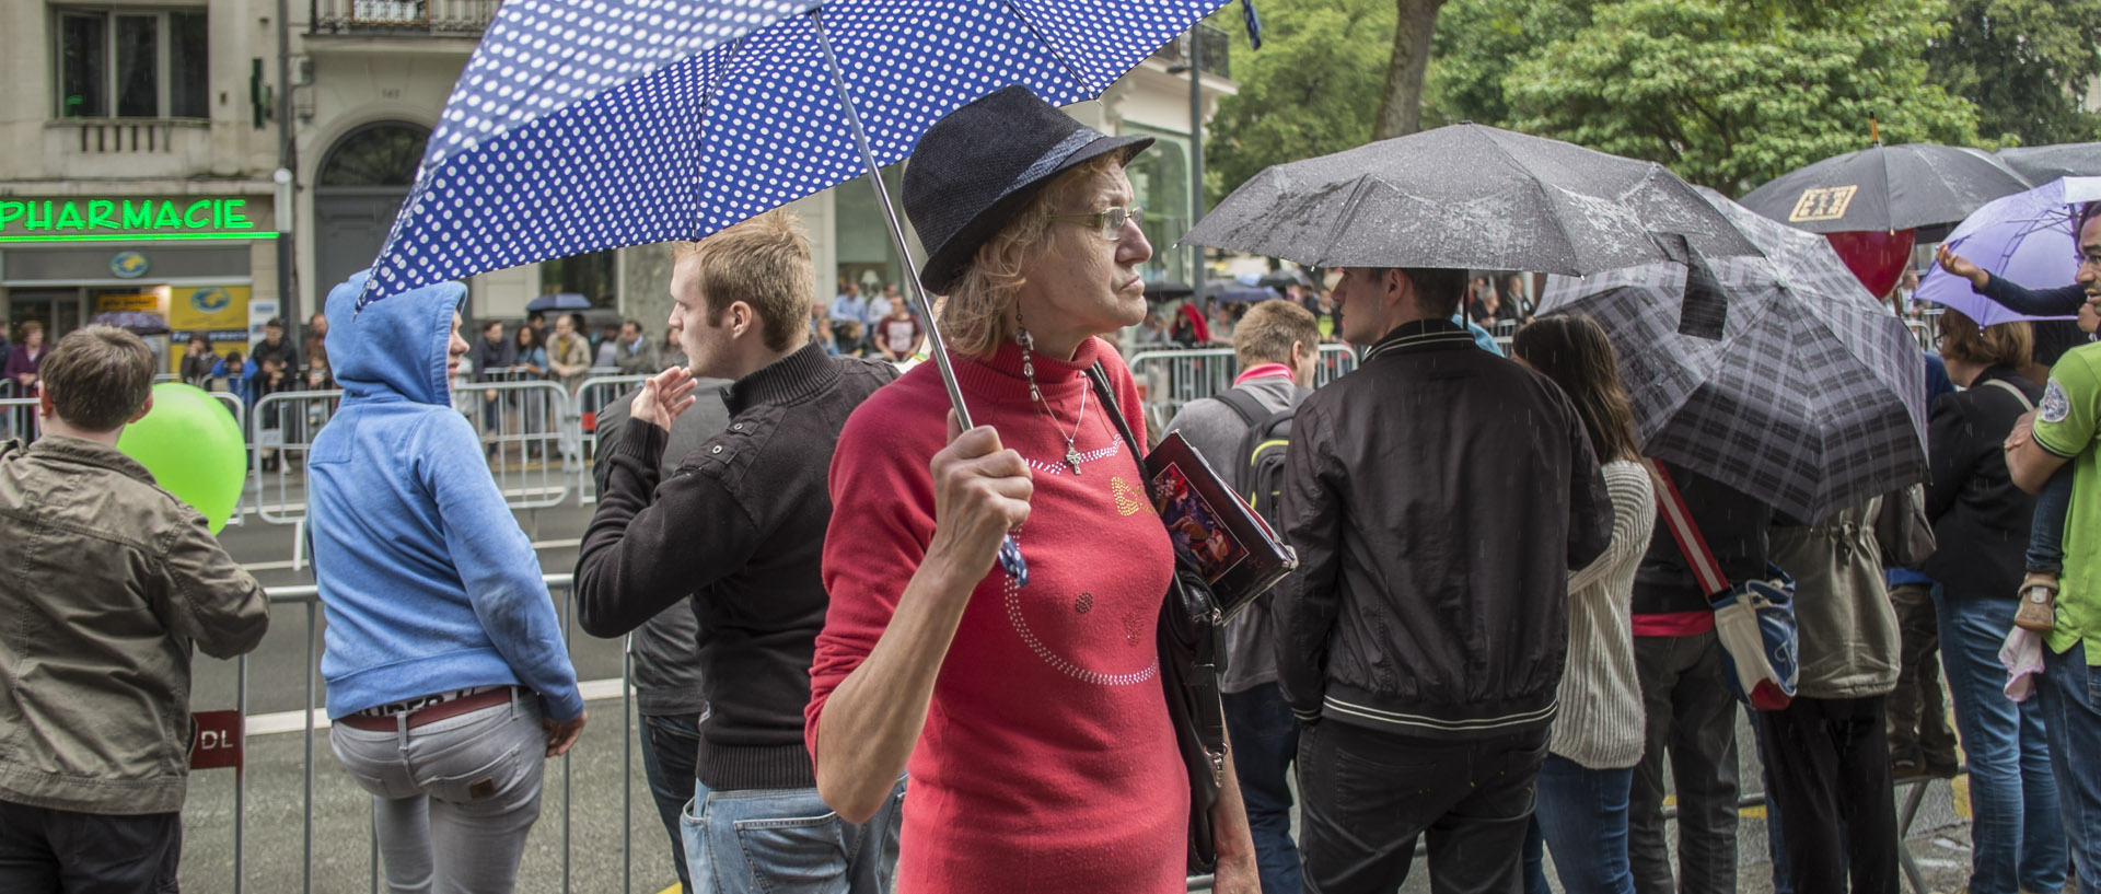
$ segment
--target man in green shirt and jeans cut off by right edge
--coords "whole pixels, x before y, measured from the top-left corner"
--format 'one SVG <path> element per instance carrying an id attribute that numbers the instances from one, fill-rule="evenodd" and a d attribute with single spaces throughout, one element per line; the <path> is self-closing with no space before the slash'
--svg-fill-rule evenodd
<path id="1" fill-rule="evenodd" d="M 2101 302 L 2101 216 L 2080 214 L 2078 281 Z M 2040 493 L 2074 464 L 2065 514 L 2065 571 L 2057 625 L 2042 651 L 2042 718 L 2065 837 L 2082 892 L 2101 892 L 2101 344 L 2067 350 L 2051 367 L 2042 403 L 2006 439 L 2006 468 L 2023 491 Z"/>

